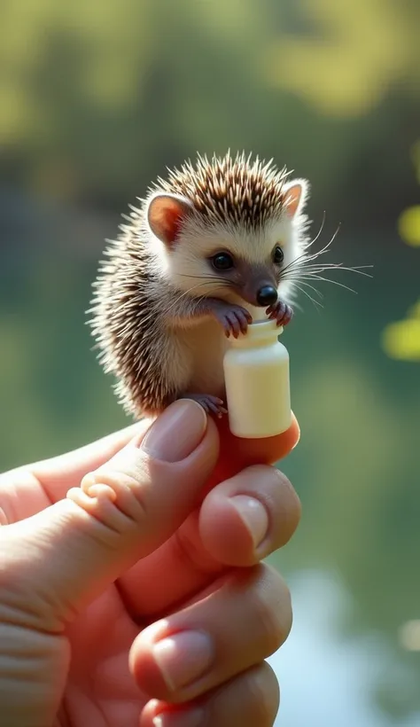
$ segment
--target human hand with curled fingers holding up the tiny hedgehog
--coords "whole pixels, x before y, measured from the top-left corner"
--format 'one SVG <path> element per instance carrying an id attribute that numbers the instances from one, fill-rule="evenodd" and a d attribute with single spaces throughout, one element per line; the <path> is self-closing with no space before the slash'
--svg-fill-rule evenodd
<path id="1" fill-rule="evenodd" d="M 149 427 L 0 477 L 4 727 L 274 723 L 292 609 L 260 561 L 299 521 L 268 466 L 297 422 L 245 442 L 183 401 Z"/>

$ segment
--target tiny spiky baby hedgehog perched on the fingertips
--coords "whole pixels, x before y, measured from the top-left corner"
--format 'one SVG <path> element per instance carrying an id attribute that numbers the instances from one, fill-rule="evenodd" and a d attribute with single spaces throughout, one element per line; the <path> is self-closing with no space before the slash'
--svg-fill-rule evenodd
<path id="1" fill-rule="evenodd" d="M 230 153 L 158 179 L 101 263 L 89 324 L 136 418 L 188 397 L 226 413 L 223 355 L 253 320 L 292 317 L 307 248 L 307 181 Z"/>

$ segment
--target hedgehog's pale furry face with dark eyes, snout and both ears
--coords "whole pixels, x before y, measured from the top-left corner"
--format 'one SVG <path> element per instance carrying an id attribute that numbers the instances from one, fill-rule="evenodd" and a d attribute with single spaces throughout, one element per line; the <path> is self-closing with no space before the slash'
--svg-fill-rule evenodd
<path id="1" fill-rule="evenodd" d="M 212 173 L 202 189 L 196 171 L 193 194 L 191 188 L 188 195 L 157 192 L 148 201 L 147 221 L 165 259 L 168 282 L 194 297 L 239 299 L 255 307 L 267 307 L 269 289 L 270 302 L 276 301 L 276 293 L 284 300 L 289 283 L 282 273 L 305 247 L 301 210 L 307 183 L 286 184 L 283 176 L 273 181 L 267 170 L 267 178 L 256 176 L 253 167 L 249 178 L 239 180 L 235 199 L 228 184 L 214 188 L 214 168 Z"/>

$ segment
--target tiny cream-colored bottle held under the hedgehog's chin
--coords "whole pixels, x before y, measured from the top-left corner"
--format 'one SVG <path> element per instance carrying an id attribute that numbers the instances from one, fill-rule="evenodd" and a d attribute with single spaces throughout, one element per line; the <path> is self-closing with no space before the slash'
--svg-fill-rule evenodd
<path id="1" fill-rule="evenodd" d="M 245 439 L 285 432 L 292 424 L 289 354 L 276 321 L 256 321 L 230 340 L 223 359 L 229 428 Z"/>

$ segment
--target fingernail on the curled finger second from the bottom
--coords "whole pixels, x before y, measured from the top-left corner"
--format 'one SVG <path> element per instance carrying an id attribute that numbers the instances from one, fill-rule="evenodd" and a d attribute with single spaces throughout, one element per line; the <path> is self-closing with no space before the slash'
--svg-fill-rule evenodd
<path id="1" fill-rule="evenodd" d="M 213 662 L 214 649 L 206 634 L 183 631 L 154 645 L 153 656 L 168 689 L 175 692 L 206 672 Z"/>

